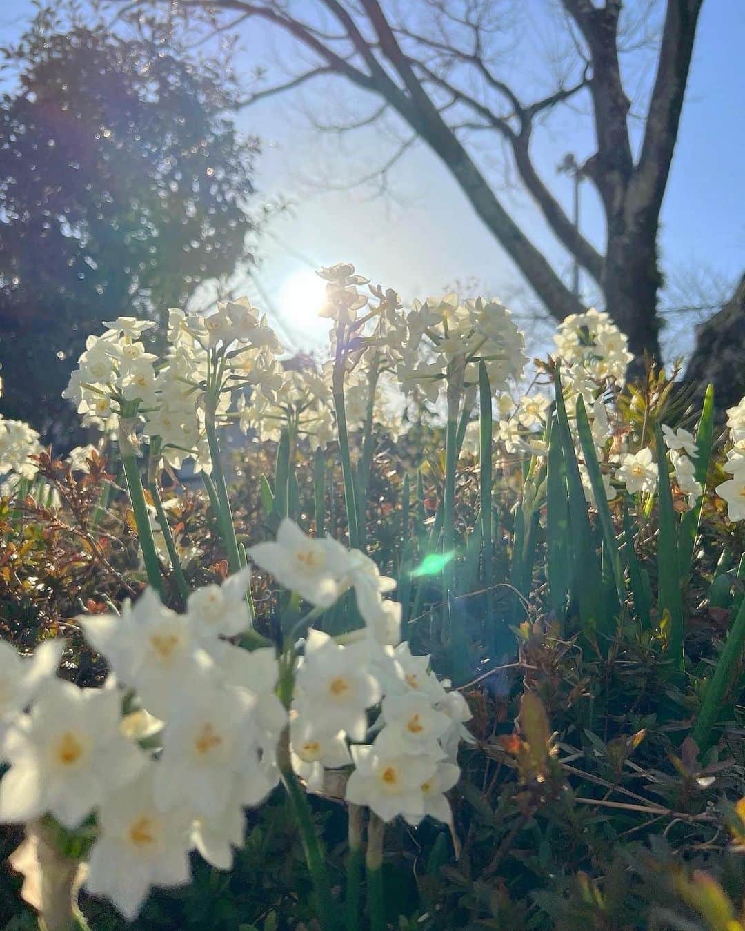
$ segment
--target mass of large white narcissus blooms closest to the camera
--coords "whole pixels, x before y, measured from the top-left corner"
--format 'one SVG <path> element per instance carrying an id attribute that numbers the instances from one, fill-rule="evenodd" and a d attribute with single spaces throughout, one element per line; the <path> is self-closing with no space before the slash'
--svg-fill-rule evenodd
<path id="1" fill-rule="evenodd" d="M 153 885 L 189 882 L 193 849 L 231 869 L 246 807 L 279 782 L 283 741 L 308 790 L 337 770 L 347 800 L 386 820 L 450 818 L 470 712 L 399 642 L 392 579 L 290 520 L 249 555 L 318 609 L 353 589 L 366 626 L 344 643 L 310 628 L 284 655 L 248 651 L 230 639 L 251 627 L 245 568 L 195 589 L 184 614 L 146 588 L 121 614 L 79 616 L 111 670 L 101 688 L 55 676 L 60 642 L 32 658 L 0 643 L 0 821 L 94 825 L 86 888 L 129 919 Z"/>

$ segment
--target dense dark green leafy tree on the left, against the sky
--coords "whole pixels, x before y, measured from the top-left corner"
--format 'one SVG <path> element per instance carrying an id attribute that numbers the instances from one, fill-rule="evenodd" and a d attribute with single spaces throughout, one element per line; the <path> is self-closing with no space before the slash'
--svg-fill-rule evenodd
<path id="1" fill-rule="evenodd" d="M 163 322 L 246 257 L 255 144 L 223 113 L 224 63 L 164 34 L 127 39 L 67 6 L 5 49 L 0 99 L 0 409 L 68 443 L 60 393 L 86 335 Z"/>

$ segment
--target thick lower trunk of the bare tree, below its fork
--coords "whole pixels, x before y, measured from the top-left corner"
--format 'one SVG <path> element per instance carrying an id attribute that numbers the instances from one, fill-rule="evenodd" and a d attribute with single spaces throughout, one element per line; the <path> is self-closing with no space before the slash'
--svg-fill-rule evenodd
<path id="1" fill-rule="evenodd" d="M 605 255 L 605 309 L 629 337 L 633 361 L 630 377 L 645 371 L 645 354 L 659 362 L 657 299 L 662 277 L 657 261 L 656 231 L 624 224 L 610 231 Z"/>

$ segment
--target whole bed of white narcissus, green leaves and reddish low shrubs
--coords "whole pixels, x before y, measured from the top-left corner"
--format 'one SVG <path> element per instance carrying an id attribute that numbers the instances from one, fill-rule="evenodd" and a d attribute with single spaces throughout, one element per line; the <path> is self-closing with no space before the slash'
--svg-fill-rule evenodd
<path id="1" fill-rule="evenodd" d="M 0 928 L 745 928 L 745 398 L 319 274 L 0 419 Z"/>

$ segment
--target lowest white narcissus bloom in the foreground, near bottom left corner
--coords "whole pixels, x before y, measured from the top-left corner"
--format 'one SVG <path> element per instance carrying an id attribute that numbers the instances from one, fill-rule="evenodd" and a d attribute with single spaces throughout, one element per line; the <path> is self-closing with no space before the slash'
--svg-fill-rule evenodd
<path id="1" fill-rule="evenodd" d="M 151 763 L 135 782 L 113 791 L 101 805 L 99 837 L 90 852 L 86 889 L 105 896 L 131 921 L 153 885 L 189 883 L 193 818 L 188 810 L 159 811 Z"/>

